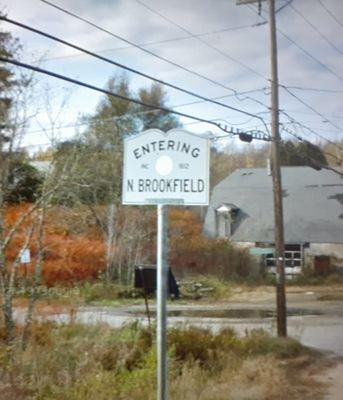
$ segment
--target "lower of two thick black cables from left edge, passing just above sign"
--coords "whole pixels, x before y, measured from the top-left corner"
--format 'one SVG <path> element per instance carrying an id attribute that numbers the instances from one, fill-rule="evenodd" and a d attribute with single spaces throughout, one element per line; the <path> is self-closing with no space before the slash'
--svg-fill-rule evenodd
<path id="1" fill-rule="evenodd" d="M 128 101 L 128 102 L 131 102 L 131 103 L 135 103 L 135 104 L 138 104 L 138 105 L 143 106 L 143 107 L 151 108 L 153 110 L 160 110 L 160 111 L 163 111 L 163 112 L 166 112 L 166 113 L 178 115 L 180 117 L 185 117 L 185 118 L 193 119 L 195 121 L 199 121 L 199 122 L 203 122 L 203 123 L 206 123 L 206 124 L 209 124 L 209 125 L 213 125 L 213 126 L 216 126 L 219 129 L 221 129 L 224 132 L 228 132 L 228 128 L 226 126 L 223 127 L 221 124 L 218 124 L 216 122 L 213 122 L 213 121 L 210 121 L 210 120 L 207 120 L 207 119 L 204 119 L 204 118 L 200 118 L 200 117 L 195 117 L 193 115 L 185 114 L 185 113 L 182 113 L 182 112 L 179 112 L 179 111 L 171 110 L 171 109 L 166 108 L 166 107 L 147 104 L 147 103 L 144 103 L 144 102 L 142 102 L 140 100 L 133 99 L 133 98 L 130 98 L 130 97 L 126 97 L 126 96 L 123 96 L 123 95 L 120 95 L 120 94 L 117 94 L 117 93 L 113 93 L 113 92 L 111 92 L 109 90 L 99 88 L 98 86 L 94 86 L 94 85 L 91 85 L 91 84 L 86 83 L 86 82 L 82 82 L 82 81 L 79 81 L 79 80 L 76 80 L 76 79 L 73 79 L 73 78 L 69 78 L 69 77 L 67 77 L 65 75 L 60 75 L 60 74 L 57 74 L 57 73 L 52 72 L 52 71 L 48 71 L 48 70 L 43 69 L 43 68 L 39 68 L 39 67 L 35 67 L 33 65 L 22 63 L 22 62 L 17 61 L 17 60 L 11 60 L 11 59 L 7 59 L 7 58 L 4 58 L 4 57 L 0 57 L 0 62 L 9 63 L 9 64 L 16 65 L 16 66 L 21 67 L 21 68 L 26 68 L 26 69 L 29 69 L 31 71 L 35 71 L 35 72 L 39 72 L 39 73 L 42 73 L 42 74 L 45 74 L 45 75 L 49 75 L 49 76 L 52 76 L 54 78 L 61 79 L 61 80 L 64 80 L 66 82 L 70 82 L 70 83 L 73 83 L 73 84 L 78 85 L 78 86 L 83 86 L 83 87 L 85 87 L 87 89 L 91 89 L 91 90 L 94 90 L 96 92 L 104 93 L 104 94 L 106 94 L 108 96 L 111 96 L 111 97 L 115 97 L 115 98 L 118 98 L 118 99 L 121 99 L 121 100 L 124 100 L 124 101 Z M 235 132 L 232 128 L 231 128 L 229 133 L 239 135 L 239 131 L 237 130 Z M 264 141 L 268 141 L 268 142 L 271 141 L 270 136 L 266 135 L 264 132 L 256 131 L 256 133 L 257 133 L 256 139 L 264 140 Z M 251 134 L 251 136 L 254 138 L 254 136 L 252 134 Z"/>

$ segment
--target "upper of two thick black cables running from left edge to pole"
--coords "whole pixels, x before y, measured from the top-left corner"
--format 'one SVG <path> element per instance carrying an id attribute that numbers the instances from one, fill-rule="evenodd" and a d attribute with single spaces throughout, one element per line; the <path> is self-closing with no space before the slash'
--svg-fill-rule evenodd
<path id="1" fill-rule="evenodd" d="M 144 78 L 147 78 L 147 79 L 149 79 L 149 80 L 152 80 L 152 81 L 154 81 L 154 82 L 160 83 L 161 85 L 168 86 L 168 87 L 170 87 L 170 88 L 172 88 L 172 89 L 178 90 L 178 91 L 180 91 L 180 92 L 182 92 L 182 93 L 186 93 L 186 94 L 188 94 L 188 95 L 190 95 L 190 96 L 196 97 L 196 98 L 201 99 L 201 100 L 203 100 L 203 101 L 207 101 L 207 102 L 209 102 L 209 103 L 216 104 L 216 105 L 219 105 L 219 106 L 221 106 L 221 107 L 228 108 L 229 110 L 236 111 L 236 112 L 239 112 L 239 113 L 248 115 L 248 116 L 250 116 L 250 117 L 257 118 L 257 119 L 259 119 L 260 121 L 263 121 L 263 118 L 261 118 L 261 117 L 259 117 L 259 116 L 256 116 L 256 115 L 254 115 L 254 114 L 252 114 L 252 113 L 249 113 L 248 111 L 244 111 L 244 110 L 238 109 L 238 108 L 236 108 L 236 107 L 231 107 L 231 106 L 229 106 L 229 105 L 227 105 L 227 104 L 220 103 L 220 102 L 218 102 L 218 101 L 216 101 L 216 100 L 211 100 L 211 99 L 209 99 L 209 98 L 207 98 L 207 97 L 205 97 L 205 96 L 202 96 L 202 95 L 200 95 L 200 94 L 198 94 L 198 93 L 194 93 L 194 92 L 192 92 L 192 91 L 190 91 L 190 90 L 181 88 L 180 86 L 177 86 L 177 85 L 171 84 L 171 83 L 169 83 L 169 82 L 163 81 L 163 80 L 161 80 L 161 79 L 155 78 L 155 77 L 153 77 L 153 76 L 151 76 L 151 75 L 148 75 L 148 74 L 146 74 L 146 73 L 144 73 L 144 72 L 138 71 L 137 69 L 128 67 L 128 66 L 126 66 L 126 65 L 124 65 L 124 64 L 121 64 L 121 63 L 118 63 L 118 62 L 116 62 L 116 61 L 113 61 L 113 60 L 111 60 L 111 59 L 109 59 L 109 58 L 103 57 L 103 56 L 101 56 L 101 55 L 99 55 L 99 54 L 96 54 L 96 53 L 94 53 L 94 52 L 92 52 L 92 51 L 89 51 L 89 50 L 87 50 L 87 49 L 85 49 L 85 48 L 83 48 L 83 47 L 80 47 L 80 46 L 75 45 L 75 44 L 73 44 L 73 43 L 67 42 L 66 40 L 60 39 L 60 38 L 58 38 L 57 36 L 54 36 L 54 35 L 51 35 L 51 34 L 49 34 L 49 33 L 46 33 L 46 32 L 43 32 L 43 31 L 41 31 L 41 30 L 38 30 L 38 29 L 36 29 L 36 28 L 30 27 L 30 26 L 28 26 L 28 25 L 26 25 L 26 24 L 22 24 L 22 23 L 20 23 L 20 22 L 14 21 L 14 20 L 12 20 L 12 19 L 10 19 L 10 18 L 1 17 L 1 16 L 0 16 L 0 20 L 6 21 L 6 22 L 8 22 L 8 23 L 10 23 L 10 24 L 13 24 L 13 25 L 19 26 L 19 27 L 21 27 L 21 28 L 23 28 L 23 29 L 26 29 L 26 30 L 29 30 L 29 31 L 31 31 L 31 32 L 34 32 L 34 33 L 36 33 L 36 34 L 38 34 L 38 35 L 40 35 L 40 36 L 44 36 L 44 37 L 46 37 L 46 38 L 49 38 L 49 39 L 51 39 L 51 40 L 54 40 L 54 41 L 56 41 L 56 42 L 58 42 L 58 43 L 61 43 L 61 44 L 65 45 L 65 46 L 71 47 L 71 48 L 73 48 L 73 49 L 75 49 L 75 50 L 81 51 L 82 53 L 88 54 L 88 55 L 90 55 L 91 57 L 97 58 L 97 59 L 99 59 L 99 60 L 101 60 L 101 61 L 104 61 L 104 62 L 109 63 L 109 64 L 112 64 L 112 65 L 115 65 L 116 67 L 125 69 L 126 71 L 130 71 L 130 72 L 132 72 L 132 73 L 134 73 L 134 74 L 140 75 L 140 76 L 142 76 L 142 77 L 144 77 Z M 268 132 L 267 125 L 265 125 L 265 128 L 267 129 L 267 132 Z"/>

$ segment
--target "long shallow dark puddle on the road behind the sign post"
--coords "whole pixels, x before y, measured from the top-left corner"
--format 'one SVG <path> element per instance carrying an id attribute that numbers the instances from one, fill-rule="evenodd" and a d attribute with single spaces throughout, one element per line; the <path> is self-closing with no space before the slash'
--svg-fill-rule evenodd
<path id="1" fill-rule="evenodd" d="M 321 315 L 317 310 L 305 310 L 301 308 L 290 308 L 287 310 L 288 317 Z M 143 316 L 145 313 L 135 313 L 135 315 Z M 155 317 L 156 312 L 150 311 L 150 315 Z M 263 319 L 276 318 L 276 311 L 268 309 L 196 309 L 196 310 L 169 310 L 168 317 L 185 317 L 185 318 L 234 318 L 234 319 Z"/>

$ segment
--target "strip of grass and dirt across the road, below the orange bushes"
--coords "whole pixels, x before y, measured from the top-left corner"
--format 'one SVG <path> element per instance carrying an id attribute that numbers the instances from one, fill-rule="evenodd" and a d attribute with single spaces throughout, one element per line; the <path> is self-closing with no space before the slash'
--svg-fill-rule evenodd
<path id="1" fill-rule="evenodd" d="M 298 282 L 299 280 L 299 282 Z M 287 282 L 286 292 L 290 295 L 314 291 L 318 300 L 342 300 L 343 276 L 316 277 L 316 279 Z M 22 285 L 16 293 L 16 305 L 25 304 L 29 291 Z M 178 304 L 189 302 L 218 303 L 226 301 L 255 301 L 271 299 L 275 296 L 275 285 L 265 281 L 225 281 L 210 275 L 195 275 L 181 280 L 181 297 Z M 85 282 L 71 287 L 41 286 L 38 290 L 40 303 L 71 305 L 130 305 L 143 304 L 142 292 L 132 286 L 106 283 L 103 281 Z M 154 302 L 154 296 L 150 301 Z"/>

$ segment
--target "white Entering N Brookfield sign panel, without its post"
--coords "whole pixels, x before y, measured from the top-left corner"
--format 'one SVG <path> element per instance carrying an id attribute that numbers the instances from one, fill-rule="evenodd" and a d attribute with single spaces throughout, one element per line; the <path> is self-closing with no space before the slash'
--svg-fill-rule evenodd
<path id="1" fill-rule="evenodd" d="M 208 205 L 209 140 L 151 129 L 124 141 L 123 204 Z"/>

